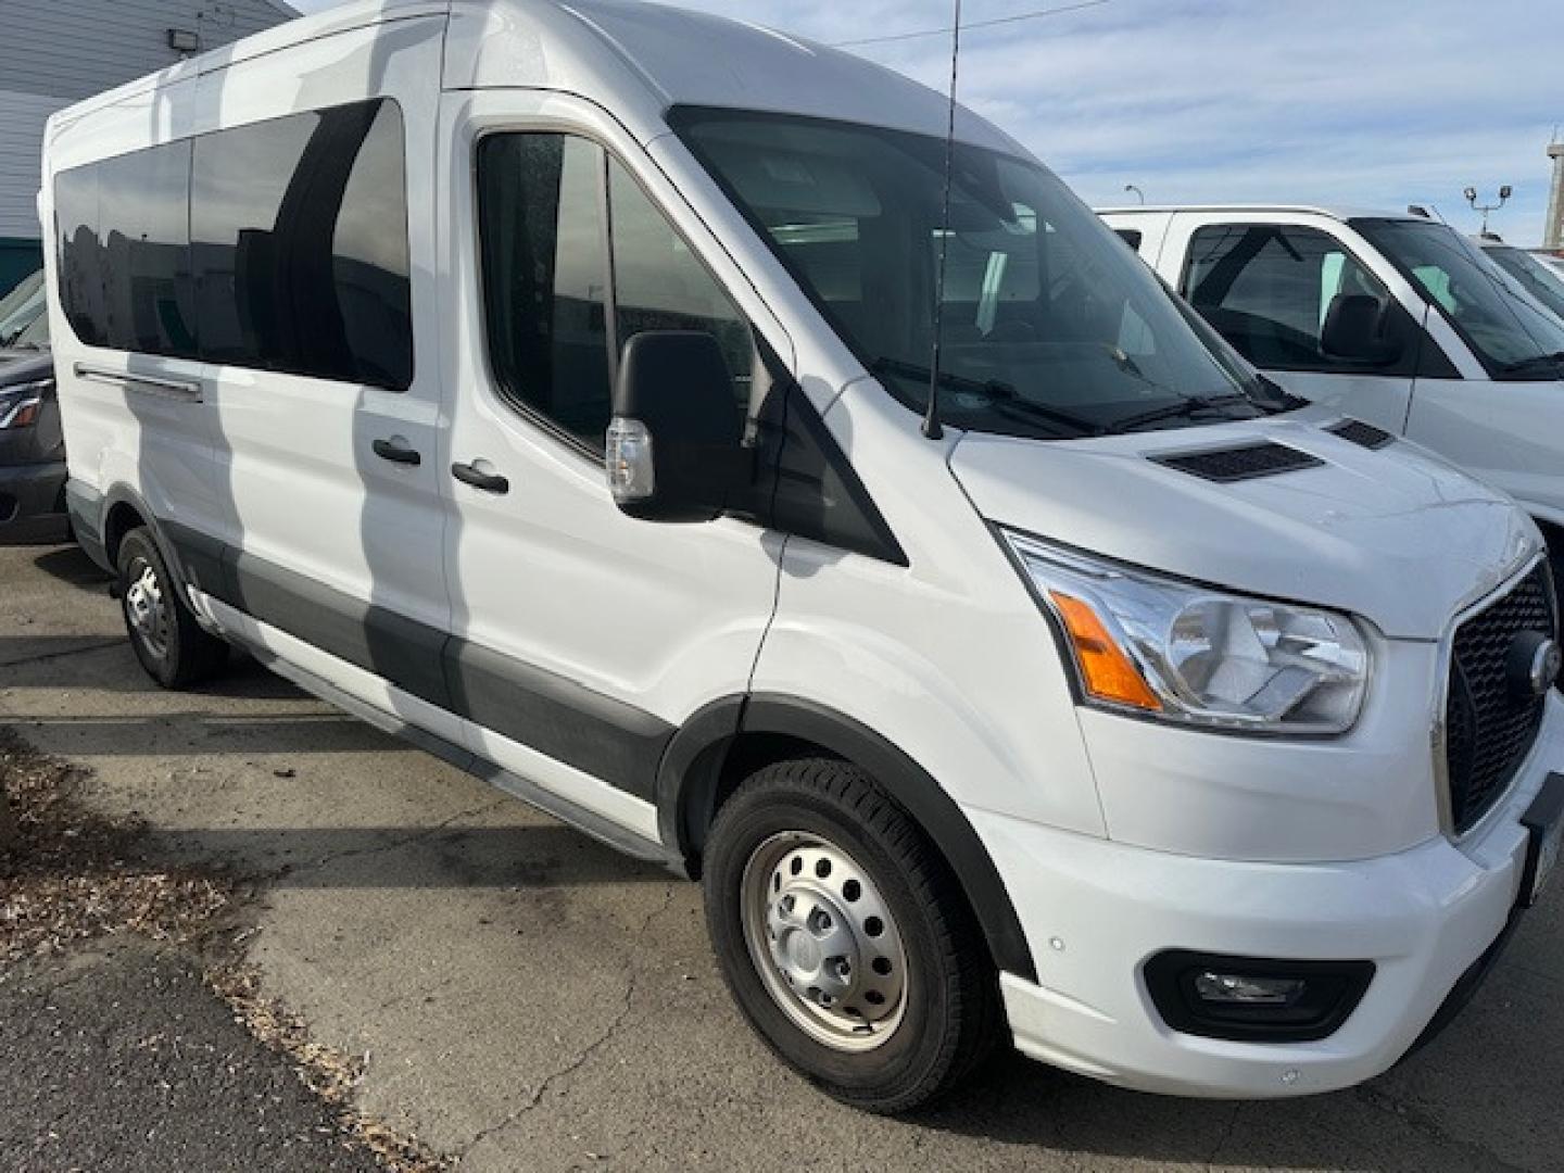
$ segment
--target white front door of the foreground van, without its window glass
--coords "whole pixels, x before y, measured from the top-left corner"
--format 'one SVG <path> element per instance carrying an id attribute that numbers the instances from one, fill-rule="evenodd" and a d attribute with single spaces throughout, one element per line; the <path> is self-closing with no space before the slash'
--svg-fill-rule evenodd
<path id="1" fill-rule="evenodd" d="M 439 355 L 446 386 L 460 394 L 447 404 L 433 463 L 446 510 L 454 699 L 472 718 L 474 752 L 521 769 L 516 744 L 547 748 L 540 738 L 563 737 L 576 751 L 568 760 L 588 771 L 593 762 L 610 765 L 599 777 L 649 799 L 673 730 L 704 704 L 748 690 L 771 619 L 782 538 L 735 519 L 651 526 L 626 516 L 608 494 L 602 457 L 502 391 L 485 321 L 472 177 L 486 136 L 526 133 L 604 147 L 771 349 L 791 357 L 791 341 L 674 185 L 602 106 L 529 89 L 444 95 L 439 158 L 450 203 L 438 238 Z M 508 490 L 485 493 L 446 475 L 468 461 L 486 461 Z M 552 715 L 535 708 L 540 679 L 569 680 L 576 701 Z M 574 713 L 561 734 L 566 710 Z M 601 749 L 604 743 L 613 749 Z"/>

